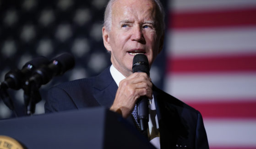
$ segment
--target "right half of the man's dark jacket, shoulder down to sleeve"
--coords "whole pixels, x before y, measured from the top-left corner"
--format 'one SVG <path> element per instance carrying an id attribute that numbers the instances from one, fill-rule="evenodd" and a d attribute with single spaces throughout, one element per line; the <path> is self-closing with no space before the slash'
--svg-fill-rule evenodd
<path id="1" fill-rule="evenodd" d="M 172 95 L 154 89 L 157 92 L 159 127 L 162 127 L 160 134 L 167 136 L 162 138 L 163 142 L 169 147 L 180 144 L 191 149 L 209 149 L 201 113 Z M 169 143 L 170 140 L 174 142 Z"/>

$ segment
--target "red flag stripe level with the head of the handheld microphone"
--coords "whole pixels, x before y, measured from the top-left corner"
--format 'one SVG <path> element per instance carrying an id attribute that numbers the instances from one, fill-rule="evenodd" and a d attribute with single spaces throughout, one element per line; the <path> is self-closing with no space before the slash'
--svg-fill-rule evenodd
<path id="1" fill-rule="evenodd" d="M 187 57 L 168 60 L 167 72 L 256 71 L 256 54 L 225 57 Z"/>

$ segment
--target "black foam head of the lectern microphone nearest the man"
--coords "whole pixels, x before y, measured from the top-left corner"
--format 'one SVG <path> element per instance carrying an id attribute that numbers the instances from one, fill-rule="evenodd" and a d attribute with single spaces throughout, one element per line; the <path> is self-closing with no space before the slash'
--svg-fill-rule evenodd
<path id="1" fill-rule="evenodd" d="M 61 54 L 59 57 L 54 58 L 52 62 L 54 65 L 60 65 L 60 72 L 58 72 L 56 75 L 61 75 L 75 66 L 75 58 L 69 53 Z"/>

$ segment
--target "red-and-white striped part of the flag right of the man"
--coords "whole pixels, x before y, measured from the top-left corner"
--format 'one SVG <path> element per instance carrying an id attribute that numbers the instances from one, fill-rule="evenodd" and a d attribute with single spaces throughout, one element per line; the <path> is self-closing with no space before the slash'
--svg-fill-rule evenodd
<path id="1" fill-rule="evenodd" d="M 256 149 L 256 0 L 174 0 L 164 90 L 202 113 L 210 149 Z"/>

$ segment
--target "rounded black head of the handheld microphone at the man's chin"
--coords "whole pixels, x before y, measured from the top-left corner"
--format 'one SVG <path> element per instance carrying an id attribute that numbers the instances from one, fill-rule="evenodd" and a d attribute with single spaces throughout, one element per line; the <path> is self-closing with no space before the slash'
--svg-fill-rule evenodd
<path id="1" fill-rule="evenodd" d="M 136 54 L 133 57 L 132 72 L 145 72 L 149 75 L 149 64 L 146 55 Z"/>

